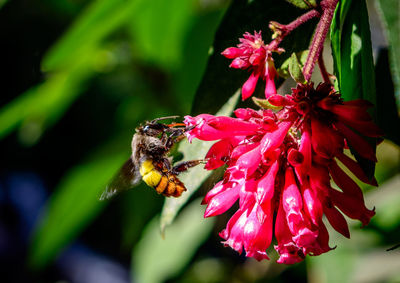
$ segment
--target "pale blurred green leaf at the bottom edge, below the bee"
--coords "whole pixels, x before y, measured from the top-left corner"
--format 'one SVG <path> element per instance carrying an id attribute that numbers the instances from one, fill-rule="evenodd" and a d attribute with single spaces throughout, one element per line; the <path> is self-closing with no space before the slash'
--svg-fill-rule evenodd
<path id="1" fill-rule="evenodd" d="M 165 282 L 181 271 L 207 239 L 214 219 L 204 219 L 201 200 L 185 208 L 163 239 L 156 217 L 146 227 L 133 250 L 132 282 Z"/>

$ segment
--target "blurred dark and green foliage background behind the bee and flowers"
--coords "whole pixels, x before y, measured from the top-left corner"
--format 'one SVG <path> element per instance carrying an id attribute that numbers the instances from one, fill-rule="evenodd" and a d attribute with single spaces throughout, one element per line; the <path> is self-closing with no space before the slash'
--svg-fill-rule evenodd
<path id="1" fill-rule="evenodd" d="M 384 1 L 367 2 L 377 82 L 393 93 L 387 49 L 398 46 L 383 31 Z M 141 122 L 191 113 L 229 5 L 0 0 L 2 282 L 400 282 L 400 248 L 386 251 L 400 243 L 400 149 L 390 140 L 377 149 L 381 186 L 363 187 L 371 224 L 349 220 L 351 240 L 331 231 L 335 250 L 294 266 L 220 244 L 229 215 L 204 220 L 200 206 L 213 180 L 164 238 L 164 197 L 145 185 L 98 201 Z"/>

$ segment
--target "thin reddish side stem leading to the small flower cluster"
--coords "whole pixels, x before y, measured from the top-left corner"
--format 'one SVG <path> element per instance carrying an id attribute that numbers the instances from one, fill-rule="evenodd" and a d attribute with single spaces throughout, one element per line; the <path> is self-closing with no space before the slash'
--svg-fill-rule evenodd
<path id="1" fill-rule="evenodd" d="M 270 26 L 273 26 L 274 28 L 279 30 L 280 34 L 276 39 L 274 39 L 273 41 L 271 41 L 270 44 L 268 44 L 268 48 L 270 50 L 274 50 L 274 49 L 278 48 L 278 46 L 282 42 L 282 40 L 287 35 L 289 35 L 293 30 L 295 30 L 302 24 L 308 22 L 309 20 L 319 17 L 320 15 L 321 15 L 320 12 L 318 12 L 315 9 L 312 9 L 287 25 L 282 25 L 282 24 L 272 21 L 270 23 Z"/>

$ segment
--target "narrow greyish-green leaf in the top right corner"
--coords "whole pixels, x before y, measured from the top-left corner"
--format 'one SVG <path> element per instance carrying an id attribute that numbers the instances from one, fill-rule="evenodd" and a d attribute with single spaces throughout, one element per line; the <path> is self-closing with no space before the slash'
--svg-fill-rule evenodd
<path id="1" fill-rule="evenodd" d="M 400 53 L 398 49 L 400 46 L 400 1 L 378 0 L 375 3 L 378 6 L 389 40 L 390 67 L 396 86 L 397 102 L 400 103 Z"/>

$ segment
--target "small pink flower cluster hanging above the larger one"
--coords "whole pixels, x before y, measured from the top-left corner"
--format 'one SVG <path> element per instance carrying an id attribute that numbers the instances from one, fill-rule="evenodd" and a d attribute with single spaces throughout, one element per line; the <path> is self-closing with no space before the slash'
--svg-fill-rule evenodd
<path id="1" fill-rule="evenodd" d="M 237 47 L 229 47 L 222 52 L 228 59 L 233 59 L 230 67 L 235 69 L 250 69 L 251 75 L 242 86 L 242 99 L 249 98 L 256 88 L 258 79 L 265 80 L 265 97 L 276 94 L 274 79 L 277 75 L 272 51 L 282 52 L 282 49 L 270 50 L 264 44 L 260 32 L 254 35 L 246 32 L 239 39 Z"/>

